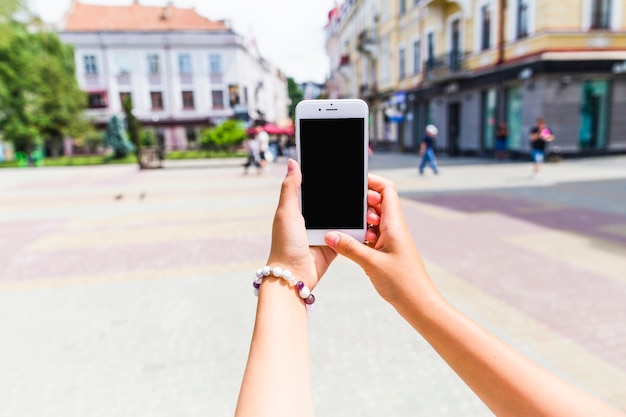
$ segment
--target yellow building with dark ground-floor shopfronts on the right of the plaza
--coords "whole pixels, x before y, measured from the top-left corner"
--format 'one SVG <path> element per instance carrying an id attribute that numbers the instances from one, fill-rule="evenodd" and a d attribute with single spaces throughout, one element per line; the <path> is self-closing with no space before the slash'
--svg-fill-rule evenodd
<path id="1" fill-rule="evenodd" d="M 434 123 L 439 151 L 489 154 L 505 121 L 525 154 L 543 116 L 553 151 L 626 151 L 623 1 L 346 0 L 326 34 L 330 91 L 369 102 L 377 143 L 415 151 Z"/>

